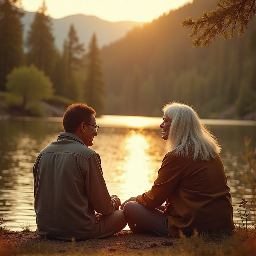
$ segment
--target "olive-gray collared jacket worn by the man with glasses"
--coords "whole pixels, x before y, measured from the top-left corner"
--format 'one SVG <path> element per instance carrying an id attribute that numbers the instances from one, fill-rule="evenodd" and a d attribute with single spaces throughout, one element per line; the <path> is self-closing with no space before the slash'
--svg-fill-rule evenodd
<path id="1" fill-rule="evenodd" d="M 117 206 L 102 175 L 99 155 L 72 133 L 60 133 L 38 155 L 34 167 L 37 233 L 56 239 L 88 235 L 95 212 L 110 214 Z"/>

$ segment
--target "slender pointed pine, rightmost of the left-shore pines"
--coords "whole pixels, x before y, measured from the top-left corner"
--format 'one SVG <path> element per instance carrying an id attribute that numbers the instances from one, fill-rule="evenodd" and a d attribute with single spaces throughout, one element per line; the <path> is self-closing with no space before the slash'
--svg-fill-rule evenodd
<path id="1" fill-rule="evenodd" d="M 99 49 L 97 46 L 96 35 L 93 34 L 89 44 L 89 52 L 87 54 L 87 76 L 85 80 L 85 102 L 96 112 L 101 114 L 104 111 L 105 104 L 103 96 L 105 93 L 105 80 L 101 67 L 101 59 L 99 57 Z"/>

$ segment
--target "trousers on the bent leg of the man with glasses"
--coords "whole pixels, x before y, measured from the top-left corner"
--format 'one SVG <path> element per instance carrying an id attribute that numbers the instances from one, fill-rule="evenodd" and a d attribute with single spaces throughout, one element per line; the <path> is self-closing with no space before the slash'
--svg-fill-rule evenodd
<path id="1" fill-rule="evenodd" d="M 85 237 L 77 241 L 87 239 L 101 239 L 121 231 L 127 225 L 127 218 L 122 210 L 114 210 L 108 215 L 96 214 L 97 222 L 94 229 Z"/>

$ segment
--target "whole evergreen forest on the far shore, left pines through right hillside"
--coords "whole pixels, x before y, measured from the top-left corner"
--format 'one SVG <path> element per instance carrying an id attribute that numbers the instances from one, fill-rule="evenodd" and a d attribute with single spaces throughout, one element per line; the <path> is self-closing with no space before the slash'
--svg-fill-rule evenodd
<path id="1" fill-rule="evenodd" d="M 27 73 L 38 69 L 49 78 L 47 89 L 40 88 L 40 95 L 50 92 L 46 101 L 85 102 L 99 114 L 161 116 L 168 101 L 188 102 L 202 118 L 251 119 L 255 111 L 255 17 L 241 38 L 216 37 L 209 47 L 192 48 L 190 30 L 180 21 L 216 8 L 216 0 L 194 0 L 102 49 L 96 34 L 88 46 L 81 44 L 70 24 L 59 52 L 45 3 L 25 37 L 17 7 L 15 0 L 0 0 L 0 103 L 5 99 L 10 108 L 32 106 L 35 115 L 42 113 L 35 113 L 35 102 L 27 94 L 19 98 L 12 93 L 17 87 L 14 75 L 25 70 L 17 69 L 27 66 Z"/>

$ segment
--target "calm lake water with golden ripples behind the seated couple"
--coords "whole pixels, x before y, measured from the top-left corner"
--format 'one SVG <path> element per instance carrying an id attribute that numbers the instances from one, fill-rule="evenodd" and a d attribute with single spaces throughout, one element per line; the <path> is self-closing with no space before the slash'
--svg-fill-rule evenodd
<path id="1" fill-rule="evenodd" d="M 20 225 L 36 228 L 32 167 L 38 152 L 63 131 L 62 118 L 20 118 L 0 120 L 0 217 L 6 228 L 21 230 Z M 231 188 L 234 220 L 240 221 L 236 207 L 243 197 L 241 172 L 247 164 L 240 151 L 244 137 L 251 137 L 255 148 L 255 122 L 203 120 L 222 145 L 223 160 Z M 103 174 L 111 195 L 121 201 L 151 188 L 165 152 L 165 141 L 158 117 L 102 116 L 101 126 L 91 147 L 99 153 Z M 216 209 L 218 211 L 218 209 Z"/>

